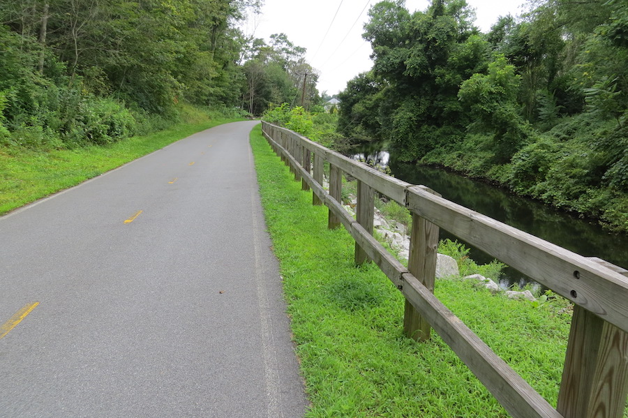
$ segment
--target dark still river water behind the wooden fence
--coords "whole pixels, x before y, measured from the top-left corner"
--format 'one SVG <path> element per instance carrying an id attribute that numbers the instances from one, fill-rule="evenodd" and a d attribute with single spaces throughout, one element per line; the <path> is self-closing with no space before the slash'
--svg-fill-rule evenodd
<path id="1" fill-rule="evenodd" d="M 578 218 L 541 202 L 513 195 L 507 189 L 469 179 L 439 167 L 400 163 L 395 161 L 394 156 L 377 148 L 356 149 L 351 154 L 353 158 L 366 160 L 371 165 L 375 163 L 380 167 L 389 167 L 391 174 L 398 179 L 427 186 L 447 200 L 569 251 L 585 257 L 599 257 L 628 269 L 628 235 L 606 232 L 595 221 Z M 469 256 L 478 263 L 485 264 L 493 260 L 490 255 L 441 228 L 440 239 L 447 238 L 471 248 Z M 504 269 L 500 278 L 503 288 L 511 285 L 523 286 L 530 282 L 530 278 L 511 267 Z"/>

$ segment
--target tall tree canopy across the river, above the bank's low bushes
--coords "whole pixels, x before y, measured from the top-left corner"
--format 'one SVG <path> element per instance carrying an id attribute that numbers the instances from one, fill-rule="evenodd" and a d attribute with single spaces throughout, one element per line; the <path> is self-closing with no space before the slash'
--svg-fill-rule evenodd
<path id="1" fill-rule="evenodd" d="M 377 3 L 364 33 L 373 70 L 343 91 L 339 130 L 357 138 L 385 133 L 409 161 L 483 130 L 495 135 L 497 160 L 505 162 L 525 145 L 527 124 L 547 130 L 585 112 L 621 126 L 628 103 L 623 6 L 539 1 L 523 21 L 500 17 L 482 34 L 463 0 L 433 0 L 412 15 L 403 1 Z M 498 73 L 516 85 L 507 100 L 497 94 L 504 89 Z"/>

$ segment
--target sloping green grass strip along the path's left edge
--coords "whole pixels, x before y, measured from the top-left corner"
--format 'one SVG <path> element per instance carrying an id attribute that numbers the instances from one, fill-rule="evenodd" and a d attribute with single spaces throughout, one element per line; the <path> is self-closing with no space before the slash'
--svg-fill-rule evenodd
<path id="1" fill-rule="evenodd" d="M 52 150 L 0 148 L 0 215 L 80 184 L 200 130 L 237 120 L 241 119 L 177 124 L 158 133 L 131 137 L 102 147 Z"/>

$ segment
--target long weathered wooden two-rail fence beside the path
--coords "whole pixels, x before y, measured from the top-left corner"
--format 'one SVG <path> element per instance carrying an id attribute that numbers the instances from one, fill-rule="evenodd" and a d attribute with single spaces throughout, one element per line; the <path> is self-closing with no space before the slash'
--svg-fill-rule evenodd
<path id="1" fill-rule="evenodd" d="M 422 341 L 435 329 L 515 418 L 622 417 L 628 395 L 628 271 L 377 172 L 291 130 L 262 122 L 262 133 L 302 188 L 313 191 L 313 204 L 329 207 L 328 227 L 344 225 L 355 239 L 355 262 L 373 260 L 404 294 L 406 335 Z M 322 186 L 325 162 L 329 193 Z M 343 172 L 357 179 L 355 219 L 341 204 Z M 407 269 L 373 238 L 375 191 L 412 213 Z M 574 302 L 557 408 L 434 296 L 439 227 Z"/>

